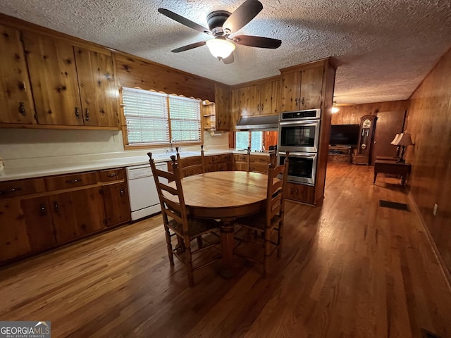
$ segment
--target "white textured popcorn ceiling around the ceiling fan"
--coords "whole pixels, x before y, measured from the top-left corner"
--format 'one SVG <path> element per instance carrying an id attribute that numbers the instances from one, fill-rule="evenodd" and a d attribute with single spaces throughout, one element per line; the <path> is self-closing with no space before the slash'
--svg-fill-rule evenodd
<path id="1" fill-rule="evenodd" d="M 0 12 L 226 84 L 333 56 L 338 104 L 408 99 L 451 46 L 449 0 L 260 0 L 263 11 L 237 34 L 281 39 L 278 49 L 237 46 L 230 65 L 206 46 L 171 53 L 209 36 L 157 8 L 208 27 L 208 13 L 243 1 L 0 0 Z"/>

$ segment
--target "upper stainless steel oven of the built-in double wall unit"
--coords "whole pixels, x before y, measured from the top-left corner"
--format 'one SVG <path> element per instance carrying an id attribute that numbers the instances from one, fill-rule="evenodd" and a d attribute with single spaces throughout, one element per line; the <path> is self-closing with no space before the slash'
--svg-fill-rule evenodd
<path id="1" fill-rule="evenodd" d="M 280 113 L 278 149 L 316 153 L 321 109 Z"/>

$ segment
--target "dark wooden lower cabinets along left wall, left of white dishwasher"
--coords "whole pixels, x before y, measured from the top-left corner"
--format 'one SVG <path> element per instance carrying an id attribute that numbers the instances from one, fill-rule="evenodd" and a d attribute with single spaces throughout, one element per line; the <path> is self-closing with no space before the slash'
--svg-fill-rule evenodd
<path id="1" fill-rule="evenodd" d="M 116 168 L 0 182 L 0 263 L 128 222 L 124 177 Z"/>

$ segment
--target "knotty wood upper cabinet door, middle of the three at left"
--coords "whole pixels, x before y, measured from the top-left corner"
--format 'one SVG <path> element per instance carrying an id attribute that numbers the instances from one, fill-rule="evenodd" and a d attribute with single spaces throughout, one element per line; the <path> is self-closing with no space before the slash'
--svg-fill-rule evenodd
<path id="1" fill-rule="evenodd" d="M 83 125 L 73 46 L 33 32 L 23 42 L 39 124 Z"/>

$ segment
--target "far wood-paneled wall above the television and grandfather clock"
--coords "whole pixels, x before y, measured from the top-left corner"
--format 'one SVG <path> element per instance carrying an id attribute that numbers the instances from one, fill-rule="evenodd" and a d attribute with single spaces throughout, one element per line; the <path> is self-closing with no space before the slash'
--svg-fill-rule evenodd
<path id="1" fill-rule="evenodd" d="M 376 102 L 374 104 L 356 104 L 355 106 L 338 106 L 337 113 L 332 114 L 333 125 L 359 125 L 364 115 L 378 115 L 379 111 L 406 111 L 409 101 Z"/>

